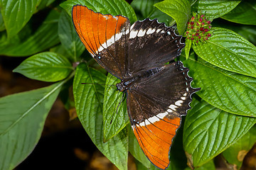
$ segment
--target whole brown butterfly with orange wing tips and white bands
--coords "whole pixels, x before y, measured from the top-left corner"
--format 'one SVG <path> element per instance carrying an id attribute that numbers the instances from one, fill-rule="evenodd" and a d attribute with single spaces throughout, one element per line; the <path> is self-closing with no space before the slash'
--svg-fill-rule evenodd
<path id="1" fill-rule="evenodd" d="M 75 5 L 73 23 L 90 55 L 121 81 L 135 137 L 149 161 L 169 166 L 169 151 L 181 115 L 190 108 L 192 78 L 174 62 L 185 46 L 175 29 L 146 18 L 132 25 L 125 16 L 96 13 Z"/>

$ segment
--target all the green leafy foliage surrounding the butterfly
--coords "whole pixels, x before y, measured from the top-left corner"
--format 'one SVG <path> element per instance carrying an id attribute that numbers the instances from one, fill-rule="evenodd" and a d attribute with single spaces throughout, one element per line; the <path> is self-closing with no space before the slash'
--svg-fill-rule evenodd
<path id="1" fill-rule="evenodd" d="M 60 89 L 70 86 L 69 80 L 73 80 L 78 118 L 97 148 L 118 169 L 127 169 L 128 152 L 138 169 L 157 169 L 134 137 L 126 96 L 115 87 L 119 79 L 101 72 L 75 33 L 70 17 L 75 4 L 127 16 L 131 23 L 137 18 L 158 18 L 168 26 L 176 23 L 181 35 L 186 33 L 192 12 L 210 18 L 209 39 L 198 44 L 186 39 L 185 52 L 178 58 L 190 69 L 191 85 L 201 91 L 193 96 L 191 110 L 183 117 L 168 169 L 189 169 L 186 159 L 196 169 L 215 169 L 213 159 L 221 153 L 229 164 L 240 168 L 256 142 L 255 1 L 58 2 L 0 0 L 0 55 L 27 57 L 14 72 L 30 79 L 58 81 L 0 98 L 0 169 L 14 169 L 32 152 L 48 111 Z"/>

